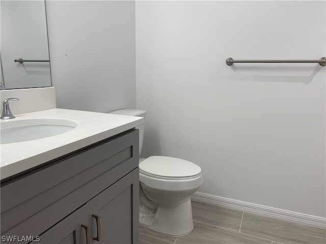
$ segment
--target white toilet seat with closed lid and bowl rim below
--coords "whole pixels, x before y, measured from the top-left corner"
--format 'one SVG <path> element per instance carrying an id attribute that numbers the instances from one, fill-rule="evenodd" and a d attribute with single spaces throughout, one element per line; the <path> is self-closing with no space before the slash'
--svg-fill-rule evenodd
<path id="1" fill-rule="evenodd" d="M 201 168 L 182 159 L 151 156 L 141 161 L 139 168 L 139 180 L 159 190 L 186 191 L 203 183 Z"/>

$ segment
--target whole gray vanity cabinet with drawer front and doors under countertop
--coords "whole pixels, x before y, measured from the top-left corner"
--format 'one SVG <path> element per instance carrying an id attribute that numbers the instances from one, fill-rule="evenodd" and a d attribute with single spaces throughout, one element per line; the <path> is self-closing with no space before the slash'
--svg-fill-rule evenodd
<path id="1" fill-rule="evenodd" d="M 138 152 L 132 129 L 3 180 L 2 242 L 138 243 Z"/>

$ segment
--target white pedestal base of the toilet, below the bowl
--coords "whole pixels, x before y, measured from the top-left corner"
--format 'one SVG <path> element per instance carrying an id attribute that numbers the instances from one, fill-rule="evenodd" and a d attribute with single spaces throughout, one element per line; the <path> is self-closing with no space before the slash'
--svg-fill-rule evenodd
<path id="1" fill-rule="evenodd" d="M 182 236 L 194 229 L 190 197 L 157 205 L 156 211 L 140 208 L 139 224 L 167 235 Z"/>

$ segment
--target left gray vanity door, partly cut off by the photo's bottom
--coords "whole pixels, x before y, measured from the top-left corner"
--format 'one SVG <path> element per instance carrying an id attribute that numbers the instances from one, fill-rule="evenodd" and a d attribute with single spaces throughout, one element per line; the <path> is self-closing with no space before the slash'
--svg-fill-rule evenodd
<path id="1" fill-rule="evenodd" d="M 37 243 L 87 244 L 87 238 L 90 239 L 90 226 L 87 218 L 87 205 L 84 205 L 41 234 L 40 241 Z"/>

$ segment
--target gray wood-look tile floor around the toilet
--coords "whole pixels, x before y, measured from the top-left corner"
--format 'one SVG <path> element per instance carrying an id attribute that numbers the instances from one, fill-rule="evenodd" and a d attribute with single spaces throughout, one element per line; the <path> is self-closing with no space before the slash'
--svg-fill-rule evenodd
<path id="1" fill-rule="evenodd" d="M 326 230 L 192 202 L 194 230 L 169 236 L 140 227 L 140 244 L 325 244 Z"/>

